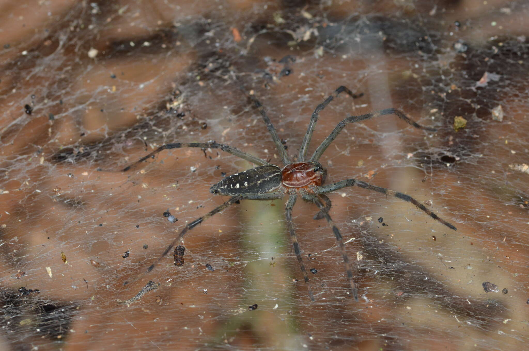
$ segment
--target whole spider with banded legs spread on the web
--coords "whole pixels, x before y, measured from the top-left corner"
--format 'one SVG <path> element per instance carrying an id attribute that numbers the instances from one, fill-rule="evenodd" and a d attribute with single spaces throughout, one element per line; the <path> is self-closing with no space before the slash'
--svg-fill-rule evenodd
<path id="1" fill-rule="evenodd" d="M 417 206 L 420 210 L 424 211 L 427 215 L 431 216 L 434 220 L 437 220 L 443 223 L 444 225 L 448 226 L 450 229 L 456 230 L 455 226 L 441 219 L 439 216 L 437 216 L 432 211 L 428 210 L 428 208 L 426 208 L 424 205 L 419 203 L 413 197 L 405 195 L 403 193 L 399 193 L 399 192 L 395 192 L 390 189 L 371 185 L 366 182 L 357 181 L 357 179 L 345 179 L 338 183 L 323 185 L 325 182 L 325 175 L 327 171 L 320 163 L 318 163 L 318 160 L 320 159 L 324 151 L 327 149 L 327 147 L 331 145 L 332 141 L 336 138 L 336 136 L 340 134 L 340 131 L 349 123 L 359 122 L 359 121 L 363 121 L 369 118 L 374 118 L 374 117 L 379 117 L 379 116 L 384 116 L 384 115 L 395 115 L 398 118 L 406 121 L 408 124 L 411 124 L 415 128 L 435 131 L 434 128 L 423 127 L 417 124 L 415 121 L 413 121 L 412 119 L 409 119 L 406 115 L 404 115 L 403 112 L 397 109 L 394 109 L 394 108 L 389 108 L 389 109 L 380 110 L 377 112 L 367 113 L 367 115 L 362 115 L 362 116 L 351 116 L 341 121 L 333 129 L 331 134 L 327 138 L 325 138 L 325 140 L 323 140 L 323 143 L 320 144 L 320 146 L 316 148 L 311 158 L 306 160 L 308 146 L 311 142 L 312 134 L 314 132 L 314 128 L 316 126 L 319 113 L 329 104 L 329 102 L 331 102 L 336 96 L 338 96 L 338 94 L 340 94 L 343 91 L 349 94 L 349 96 L 351 96 L 352 98 L 358 97 L 355 94 L 353 94 L 351 90 L 349 90 L 348 88 L 341 86 L 338 89 L 336 89 L 331 94 L 331 96 L 329 96 L 327 99 L 325 99 L 325 101 L 323 101 L 320 105 L 316 107 L 316 109 L 312 113 L 311 120 L 308 123 L 307 132 L 305 134 L 305 137 L 303 138 L 301 147 L 299 148 L 299 154 L 297 157 L 297 161 L 294 163 L 291 162 L 290 157 L 287 155 L 285 148 L 281 144 L 281 141 L 277 135 L 276 129 L 273 127 L 272 122 L 268 118 L 266 111 L 263 108 L 261 102 L 259 102 L 259 100 L 257 100 L 252 95 L 250 96 L 250 98 L 255 103 L 256 107 L 259 109 L 259 112 L 261 113 L 263 121 L 265 121 L 268 131 L 270 132 L 270 135 L 272 136 L 273 143 L 276 144 L 276 148 L 284 164 L 284 167 L 282 168 L 276 165 L 271 165 L 264 159 L 244 153 L 243 151 L 238 150 L 234 147 L 215 143 L 215 141 L 208 141 L 207 143 L 165 144 L 165 145 L 160 146 L 158 149 L 152 151 L 152 153 L 150 153 L 149 155 L 142 157 L 134 164 L 124 168 L 123 171 L 125 172 L 131 169 L 132 167 L 135 167 L 136 165 L 140 164 L 144 160 L 150 157 L 153 157 L 154 155 L 158 154 L 162 150 L 175 149 L 175 148 L 180 148 L 180 147 L 199 147 L 199 148 L 221 149 L 223 151 L 226 151 L 227 153 L 230 153 L 234 156 L 240 157 L 253 164 L 258 165 L 258 167 L 245 170 L 244 172 L 233 174 L 231 176 L 227 176 L 224 179 L 222 179 L 222 181 L 213 185 L 211 187 L 211 192 L 213 194 L 229 195 L 231 196 L 230 199 L 226 201 L 225 203 L 223 203 L 222 205 L 215 208 L 213 211 L 186 224 L 184 229 L 178 234 L 175 240 L 173 240 L 171 244 L 167 246 L 167 249 L 163 251 L 160 257 L 153 264 L 151 264 L 144 273 L 142 273 L 140 276 L 134 279 L 125 281 L 124 284 L 126 285 L 128 283 L 134 282 L 142 278 L 145 274 L 152 271 L 154 267 L 156 267 L 156 265 L 162 260 L 162 258 L 165 257 L 169 253 L 169 251 L 173 248 L 173 246 L 175 246 L 184 237 L 184 235 L 187 233 L 188 230 L 193 229 L 195 226 L 207 220 L 209 217 L 213 216 L 214 214 L 221 212 L 222 210 L 224 210 L 224 208 L 232 204 L 239 203 L 240 200 L 275 200 L 278 198 L 282 198 L 286 194 L 288 194 L 288 201 L 286 204 L 286 214 L 285 214 L 286 220 L 287 220 L 288 231 L 290 233 L 290 238 L 292 239 L 292 243 L 294 245 L 294 252 L 296 253 L 296 257 L 299 262 L 299 267 L 301 269 L 301 272 L 303 273 L 303 278 L 305 279 L 305 283 L 307 284 L 308 295 L 312 301 L 314 301 L 314 296 L 313 296 L 313 292 L 311 289 L 311 284 L 308 280 L 307 271 L 305 270 L 305 265 L 303 264 L 301 252 L 299 249 L 299 244 L 296 238 L 296 232 L 294 230 L 294 223 L 292 221 L 292 208 L 294 207 L 294 204 L 296 203 L 298 196 L 301 197 L 305 201 L 314 203 L 320 209 L 320 211 L 314 216 L 314 219 L 325 218 L 327 223 L 329 223 L 329 226 L 331 227 L 334 233 L 334 236 L 336 237 L 336 241 L 338 241 L 338 244 L 340 245 L 340 249 L 342 251 L 342 256 L 343 256 L 343 262 L 345 264 L 345 271 L 347 272 L 347 277 L 351 285 L 353 297 L 356 301 L 358 301 L 358 292 L 357 292 L 357 288 L 353 281 L 353 273 L 351 271 L 349 259 L 347 257 L 347 252 L 345 251 L 345 244 L 343 243 L 342 235 L 340 234 L 338 227 L 334 225 L 334 222 L 332 221 L 331 216 L 329 215 L 329 210 L 331 208 L 331 201 L 325 195 L 326 193 L 330 193 L 330 192 L 333 192 L 335 190 L 338 190 L 344 187 L 355 185 L 355 186 L 359 186 L 364 189 L 376 191 L 382 194 L 395 196 L 397 198 L 400 198 L 400 200 L 411 202 L 412 204 Z"/>

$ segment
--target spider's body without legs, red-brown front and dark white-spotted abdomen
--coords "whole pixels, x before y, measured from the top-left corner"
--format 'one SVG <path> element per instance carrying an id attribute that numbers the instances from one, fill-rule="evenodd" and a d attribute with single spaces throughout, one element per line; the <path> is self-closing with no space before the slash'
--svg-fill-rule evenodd
<path id="1" fill-rule="evenodd" d="M 315 193 L 314 187 L 323 185 L 325 175 L 325 168 L 318 162 L 295 162 L 283 169 L 276 165 L 265 165 L 227 176 L 209 188 L 209 191 L 231 196 L 273 191 L 285 193 L 289 189 L 304 189 Z"/>

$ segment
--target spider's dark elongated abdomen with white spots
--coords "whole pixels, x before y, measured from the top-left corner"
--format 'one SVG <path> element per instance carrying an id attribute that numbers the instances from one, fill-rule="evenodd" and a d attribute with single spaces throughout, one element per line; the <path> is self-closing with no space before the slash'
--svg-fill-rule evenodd
<path id="1" fill-rule="evenodd" d="M 281 168 L 265 165 L 228 176 L 209 188 L 213 194 L 265 194 L 281 186 Z"/>

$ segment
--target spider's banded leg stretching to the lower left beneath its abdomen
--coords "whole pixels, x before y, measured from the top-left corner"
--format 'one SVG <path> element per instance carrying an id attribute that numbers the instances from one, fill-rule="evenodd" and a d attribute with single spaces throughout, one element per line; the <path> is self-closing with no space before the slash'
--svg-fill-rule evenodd
<path id="1" fill-rule="evenodd" d="M 189 230 L 193 229 L 198 224 L 204 222 L 209 217 L 212 217 L 215 214 L 221 212 L 222 210 L 224 210 L 224 208 L 226 208 L 226 207 L 228 207 L 230 205 L 239 203 L 240 200 L 276 200 L 277 198 L 281 198 L 282 196 L 283 196 L 282 193 L 275 192 L 275 193 L 267 193 L 267 194 L 236 195 L 236 196 L 230 197 L 230 199 L 228 201 L 226 201 L 225 203 L 223 203 L 220 206 L 217 206 L 216 208 L 214 208 L 214 210 L 209 211 L 204 216 L 199 217 L 196 220 L 194 220 L 193 222 L 190 222 L 190 223 L 186 224 L 186 226 L 184 227 L 183 230 L 180 231 L 178 236 L 169 244 L 169 246 L 167 246 L 167 249 L 165 251 L 163 251 L 163 253 L 160 255 L 160 257 L 158 257 L 158 259 L 156 261 L 154 261 L 154 263 L 152 263 L 149 266 L 149 268 L 147 268 L 147 270 L 145 270 L 145 272 L 143 272 L 139 276 L 136 276 L 133 279 L 129 279 L 129 280 L 125 281 L 123 283 L 123 285 L 127 285 L 127 284 L 130 284 L 130 283 L 133 283 L 136 280 L 139 280 L 139 279 L 143 278 L 145 276 L 145 274 L 148 274 L 150 271 L 152 271 L 154 269 L 154 267 L 156 267 L 158 265 L 158 263 L 160 263 L 160 261 L 164 257 L 166 257 L 166 255 L 169 253 L 169 251 L 171 251 L 173 246 L 175 246 L 182 238 L 184 238 L 184 235 L 186 235 L 186 233 Z"/>

